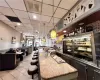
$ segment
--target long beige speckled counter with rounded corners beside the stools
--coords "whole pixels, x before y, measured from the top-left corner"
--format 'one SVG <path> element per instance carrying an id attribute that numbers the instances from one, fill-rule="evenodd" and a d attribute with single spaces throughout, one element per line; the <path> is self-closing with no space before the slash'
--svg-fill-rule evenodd
<path id="1" fill-rule="evenodd" d="M 40 75 L 42 80 L 77 80 L 77 70 L 68 63 L 58 64 L 45 52 L 39 52 Z"/>

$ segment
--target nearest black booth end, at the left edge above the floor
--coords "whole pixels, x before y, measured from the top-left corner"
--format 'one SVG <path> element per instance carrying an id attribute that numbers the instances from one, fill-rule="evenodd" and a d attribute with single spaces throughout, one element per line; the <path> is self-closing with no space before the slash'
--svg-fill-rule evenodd
<path id="1" fill-rule="evenodd" d="M 0 54 L 0 70 L 10 70 L 16 67 L 16 54 Z"/>

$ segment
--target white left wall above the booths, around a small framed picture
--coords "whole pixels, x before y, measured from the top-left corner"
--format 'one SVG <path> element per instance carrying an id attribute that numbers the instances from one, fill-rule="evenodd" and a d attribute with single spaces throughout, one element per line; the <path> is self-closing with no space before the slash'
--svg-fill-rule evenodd
<path id="1" fill-rule="evenodd" d="M 16 37 L 16 43 L 11 44 L 12 37 Z M 0 50 L 20 47 L 20 33 L 0 21 Z"/>

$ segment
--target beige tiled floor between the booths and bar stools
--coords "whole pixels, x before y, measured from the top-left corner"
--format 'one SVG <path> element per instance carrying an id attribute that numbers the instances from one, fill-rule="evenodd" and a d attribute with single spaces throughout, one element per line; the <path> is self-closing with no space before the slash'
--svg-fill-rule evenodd
<path id="1" fill-rule="evenodd" d="M 14 70 L 0 71 L 0 80 L 32 80 L 31 76 L 27 74 L 27 70 L 33 54 L 34 52 L 25 57 Z M 33 80 L 38 80 L 38 76 L 35 75 Z"/>

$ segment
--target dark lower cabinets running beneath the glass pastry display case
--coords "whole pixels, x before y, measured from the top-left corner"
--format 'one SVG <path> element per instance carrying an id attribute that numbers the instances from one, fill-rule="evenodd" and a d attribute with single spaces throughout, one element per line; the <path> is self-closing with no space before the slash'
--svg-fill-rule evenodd
<path id="1" fill-rule="evenodd" d="M 57 53 L 60 54 L 60 53 Z M 78 80 L 100 80 L 100 70 L 85 64 L 73 57 L 65 56 L 65 54 L 60 54 L 61 58 L 64 59 L 71 66 L 78 70 Z"/>

